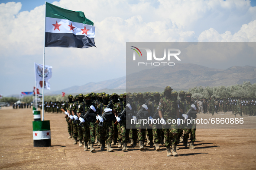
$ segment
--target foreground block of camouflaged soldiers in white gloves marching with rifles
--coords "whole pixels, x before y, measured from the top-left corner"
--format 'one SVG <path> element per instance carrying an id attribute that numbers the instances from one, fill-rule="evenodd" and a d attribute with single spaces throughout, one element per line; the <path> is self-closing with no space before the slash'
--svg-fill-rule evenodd
<path id="1" fill-rule="evenodd" d="M 118 142 L 118 148 L 128 151 L 129 140 L 132 147 L 139 142 L 139 149 L 143 151 L 146 134 L 148 135 L 150 148 L 155 145 L 156 151 L 160 151 L 160 142 L 164 134 L 164 144 L 167 156 L 178 156 L 177 145 L 183 135 L 183 145 L 187 147 L 189 134 L 191 134 L 190 148 L 195 149 L 195 124 L 180 124 L 180 119 L 188 119 L 188 110 L 192 110 L 189 118 L 196 118 L 198 109 L 191 101 L 191 94 L 180 91 L 180 100 L 177 101 L 178 92 L 167 86 L 164 95 L 159 92 L 149 93 L 124 93 L 120 96 L 100 93 L 79 94 L 72 100 L 69 95 L 68 102 L 62 105 L 62 111 L 66 114 L 68 132 L 73 135 L 74 144 L 84 145 L 84 151 L 90 149 L 94 152 L 94 143 L 99 142 L 100 150 L 113 151 L 112 145 Z M 97 97 L 97 98 L 96 98 Z M 192 108 L 192 109 L 191 109 Z M 146 124 L 138 123 L 138 120 L 151 120 Z M 167 123 L 167 120 L 175 119 L 175 123 Z M 157 121 L 159 123 L 152 123 Z M 159 121 L 160 120 L 160 121 Z M 133 123 L 132 123 L 133 122 Z M 136 122 L 136 123 L 135 123 Z M 184 134 L 183 134 L 184 131 Z M 161 142 L 162 143 L 162 142 Z"/>

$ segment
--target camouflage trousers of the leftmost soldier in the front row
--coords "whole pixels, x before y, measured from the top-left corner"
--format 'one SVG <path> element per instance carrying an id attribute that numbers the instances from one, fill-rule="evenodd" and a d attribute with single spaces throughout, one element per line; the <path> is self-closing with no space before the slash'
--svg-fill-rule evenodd
<path id="1" fill-rule="evenodd" d="M 91 143 L 95 142 L 95 122 L 89 122 L 86 121 L 84 122 L 83 126 L 83 137 L 84 137 L 84 142 L 87 143 L 89 140 L 91 140 Z"/>

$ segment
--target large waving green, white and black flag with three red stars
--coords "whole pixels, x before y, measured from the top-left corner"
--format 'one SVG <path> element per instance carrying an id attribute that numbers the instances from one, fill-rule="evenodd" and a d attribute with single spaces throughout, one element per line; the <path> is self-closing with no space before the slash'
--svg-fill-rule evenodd
<path id="1" fill-rule="evenodd" d="M 96 47 L 95 27 L 83 12 L 46 2 L 45 47 Z"/>

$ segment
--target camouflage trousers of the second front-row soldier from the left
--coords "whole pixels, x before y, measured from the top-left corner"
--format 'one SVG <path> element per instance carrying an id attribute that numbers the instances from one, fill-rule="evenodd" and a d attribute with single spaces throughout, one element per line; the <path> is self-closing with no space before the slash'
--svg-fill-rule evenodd
<path id="1" fill-rule="evenodd" d="M 107 143 L 112 142 L 112 136 L 113 136 L 113 124 L 112 120 L 105 120 L 103 122 L 103 126 L 99 126 L 99 139 L 100 142 L 103 142 L 106 140 Z"/>

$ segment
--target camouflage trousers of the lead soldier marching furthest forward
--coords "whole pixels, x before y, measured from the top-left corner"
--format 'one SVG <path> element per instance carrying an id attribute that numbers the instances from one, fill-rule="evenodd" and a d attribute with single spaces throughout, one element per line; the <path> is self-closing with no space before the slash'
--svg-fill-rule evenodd
<path id="1" fill-rule="evenodd" d="M 177 124 L 166 124 L 165 126 L 163 126 L 166 147 L 178 144 L 178 129 L 177 128 L 178 128 Z"/>

